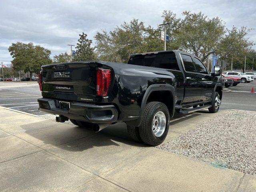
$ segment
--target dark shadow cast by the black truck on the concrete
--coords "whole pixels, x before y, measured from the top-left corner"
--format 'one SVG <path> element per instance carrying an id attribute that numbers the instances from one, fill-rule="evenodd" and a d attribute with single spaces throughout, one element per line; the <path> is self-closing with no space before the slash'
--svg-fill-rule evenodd
<path id="1" fill-rule="evenodd" d="M 170 126 L 200 116 L 200 113 L 190 115 L 177 114 L 171 119 Z M 128 135 L 125 123 L 116 123 L 108 126 L 100 132 L 93 132 L 86 128 L 70 124 L 57 123 L 54 126 L 31 130 L 38 123 L 24 124 L 21 126 L 25 131 L 24 140 L 44 149 L 58 147 L 68 151 L 84 151 L 93 147 L 129 145 L 134 147 L 150 147 L 146 144 L 135 142 Z M 27 129 L 29 128 L 29 129 Z M 169 133 L 171 134 L 171 133 Z"/>

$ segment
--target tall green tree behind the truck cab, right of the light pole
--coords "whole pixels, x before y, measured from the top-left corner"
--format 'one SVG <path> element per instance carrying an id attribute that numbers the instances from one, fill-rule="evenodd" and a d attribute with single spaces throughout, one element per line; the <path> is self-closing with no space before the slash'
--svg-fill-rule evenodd
<path id="1" fill-rule="evenodd" d="M 180 48 L 191 52 L 202 61 L 218 48 L 219 42 L 225 34 L 225 26 L 220 18 L 208 18 L 202 12 L 182 13 L 185 18 L 181 20 L 177 38 Z"/>

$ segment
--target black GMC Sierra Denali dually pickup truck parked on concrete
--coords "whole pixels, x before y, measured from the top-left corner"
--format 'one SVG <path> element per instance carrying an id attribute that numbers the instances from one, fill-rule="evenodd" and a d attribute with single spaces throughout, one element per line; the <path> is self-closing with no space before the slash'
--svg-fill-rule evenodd
<path id="1" fill-rule="evenodd" d="M 38 99 L 43 112 L 94 131 L 127 124 L 139 142 L 161 144 L 174 112 L 218 112 L 221 68 L 210 73 L 194 55 L 178 50 L 133 54 L 128 64 L 85 61 L 42 66 Z"/>

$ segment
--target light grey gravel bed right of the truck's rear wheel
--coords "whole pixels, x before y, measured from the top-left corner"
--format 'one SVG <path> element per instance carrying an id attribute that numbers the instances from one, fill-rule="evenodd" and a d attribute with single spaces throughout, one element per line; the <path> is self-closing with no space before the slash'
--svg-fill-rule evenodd
<path id="1" fill-rule="evenodd" d="M 256 174 L 256 112 L 229 110 L 156 148 Z"/>

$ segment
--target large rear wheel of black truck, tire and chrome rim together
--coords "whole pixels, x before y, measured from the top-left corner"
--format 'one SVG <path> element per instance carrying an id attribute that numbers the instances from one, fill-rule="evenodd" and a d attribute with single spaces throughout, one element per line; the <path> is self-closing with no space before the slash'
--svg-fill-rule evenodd
<path id="1" fill-rule="evenodd" d="M 140 138 L 152 146 L 161 144 L 168 134 L 169 121 L 169 111 L 164 103 L 149 102 L 139 126 Z"/>

